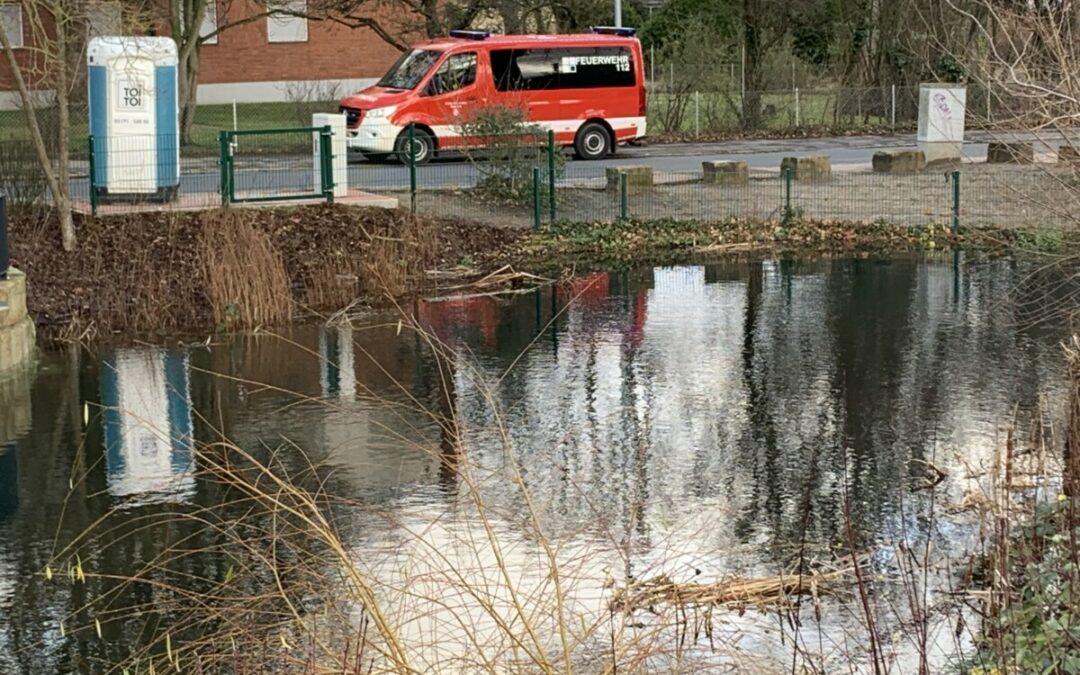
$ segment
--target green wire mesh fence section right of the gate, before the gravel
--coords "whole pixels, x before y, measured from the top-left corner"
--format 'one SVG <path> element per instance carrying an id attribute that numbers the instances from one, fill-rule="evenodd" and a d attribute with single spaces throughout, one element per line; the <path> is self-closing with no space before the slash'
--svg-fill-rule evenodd
<path id="1" fill-rule="evenodd" d="M 751 170 L 723 180 L 703 171 L 652 171 L 647 178 L 627 173 L 625 179 L 621 173 L 595 163 L 569 163 L 556 178 L 553 211 L 549 195 L 539 189 L 516 203 L 492 202 L 467 164 L 418 167 L 416 211 L 511 227 L 618 218 L 710 222 L 785 217 L 950 227 L 954 210 L 966 228 L 1080 225 L 1080 181 L 1068 168 L 969 165 L 907 174 L 838 170 L 815 179 L 788 178 L 777 168 Z M 539 175 L 545 180 L 543 172 Z M 403 205 L 409 204 L 405 190 L 395 193 Z"/>

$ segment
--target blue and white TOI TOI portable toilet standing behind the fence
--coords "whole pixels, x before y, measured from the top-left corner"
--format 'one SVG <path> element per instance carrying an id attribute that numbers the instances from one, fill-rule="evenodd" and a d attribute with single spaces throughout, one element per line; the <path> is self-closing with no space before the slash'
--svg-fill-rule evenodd
<path id="1" fill-rule="evenodd" d="M 100 201 L 172 201 L 180 183 L 176 43 L 94 38 L 86 48 L 93 188 Z"/>

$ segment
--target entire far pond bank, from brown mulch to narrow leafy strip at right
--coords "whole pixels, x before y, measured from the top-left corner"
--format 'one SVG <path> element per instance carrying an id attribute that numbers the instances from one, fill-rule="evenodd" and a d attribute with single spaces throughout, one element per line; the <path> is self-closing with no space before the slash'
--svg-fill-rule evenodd
<path id="1" fill-rule="evenodd" d="M 49 214 L 16 213 L 11 226 L 12 262 L 28 274 L 29 310 L 41 334 L 78 340 L 281 325 L 357 302 L 460 293 L 468 280 L 507 266 L 559 279 L 730 255 L 888 253 L 973 241 L 998 246 L 1013 237 L 734 218 L 522 231 L 405 211 L 306 205 L 79 217 L 79 246 L 67 253 Z"/>

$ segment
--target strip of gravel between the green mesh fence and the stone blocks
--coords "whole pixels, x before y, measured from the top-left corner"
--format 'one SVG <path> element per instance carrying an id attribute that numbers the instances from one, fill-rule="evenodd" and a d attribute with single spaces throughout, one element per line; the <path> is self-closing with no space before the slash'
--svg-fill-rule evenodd
<path id="1" fill-rule="evenodd" d="M 791 204 L 814 219 L 883 220 L 924 227 L 948 225 L 953 215 L 950 170 L 890 175 L 835 172 L 825 181 L 792 184 Z M 630 194 L 627 212 L 644 219 L 727 217 L 779 218 L 784 180 L 778 172 L 754 172 L 742 186 L 701 183 L 693 172 L 656 175 L 657 185 Z M 619 195 L 596 175 L 566 176 L 557 189 L 559 220 L 605 221 L 620 214 Z M 572 187 L 571 187 L 572 186 Z M 404 194 L 402 204 L 408 203 Z M 418 195 L 427 215 L 458 216 L 510 227 L 532 224 L 531 204 L 491 205 L 469 190 Z M 541 217 L 548 220 L 548 203 Z M 1080 225 L 1080 176 L 1066 166 L 964 165 L 960 177 L 960 221 L 966 227 L 1076 227 Z"/>

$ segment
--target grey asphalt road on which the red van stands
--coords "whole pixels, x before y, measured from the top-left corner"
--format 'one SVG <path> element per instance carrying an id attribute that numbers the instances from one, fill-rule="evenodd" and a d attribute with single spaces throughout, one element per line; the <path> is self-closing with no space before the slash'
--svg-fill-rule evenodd
<path id="1" fill-rule="evenodd" d="M 963 146 L 967 161 L 986 159 L 990 139 L 1028 140 L 1047 147 L 1059 141 L 1024 132 L 969 132 Z M 565 183 L 597 180 L 608 166 L 640 164 L 657 172 L 700 172 L 704 160 L 745 160 L 752 170 L 779 171 L 780 161 L 792 154 L 826 154 L 834 168 L 868 168 L 874 152 L 886 148 L 913 147 L 914 134 L 892 136 L 836 136 L 824 138 L 785 138 L 773 140 L 733 140 L 726 143 L 643 145 L 619 148 L 615 157 L 595 162 L 567 160 Z M 180 190 L 186 193 L 217 193 L 218 172 L 206 160 L 183 162 Z M 474 185 L 480 170 L 461 157 L 440 158 L 418 167 L 421 188 L 467 188 Z M 372 192 L 407 190 L 408 170 L 399 164 L 375 164 L 360 157 L 350 158 L 349 186 Z M 85 173 L 72 180 L 76 195 L 87 192 Z M 269 195 L 285 192 L 314 192 L 314 172 L 307 157 L 243 158 L 238 161 L 238 195 Z"/>

